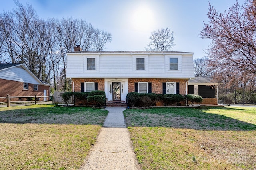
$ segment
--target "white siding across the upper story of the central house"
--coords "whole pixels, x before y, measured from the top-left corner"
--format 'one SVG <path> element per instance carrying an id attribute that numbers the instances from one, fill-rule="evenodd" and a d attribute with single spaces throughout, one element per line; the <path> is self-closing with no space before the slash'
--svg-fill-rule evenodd
<path id="1" fill-rule="evenodd" d="M 88 56 L 87 56 L 88 55 Z M 178 59 L 178 70 L 170 70 L 170 58 Z M 87 58 L 95 58 L 95 69 L 87 70 Z M 144 58 L 145 70 L 137 70 Z M 84 62 L 83 62 L 84 61 Z M 67 78 L 194 78 L 192 54 L 68 53 Z"/>

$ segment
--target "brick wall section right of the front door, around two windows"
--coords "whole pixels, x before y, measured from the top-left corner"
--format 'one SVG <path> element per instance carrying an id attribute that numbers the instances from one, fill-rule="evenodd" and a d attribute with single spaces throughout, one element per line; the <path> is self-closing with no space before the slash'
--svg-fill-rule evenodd
<path id="1" fill-rule="evenodd" d="M 129 78 L 128 79 L 128 92 L 134 92 L 136 82 L 150 82 L 152 83 L 152 93 L 162 94 L 164 82 L 179 82 L 180 94 L 186 94 L 186 82 L 188 79 L 160 79 L 160 78 Z"/>

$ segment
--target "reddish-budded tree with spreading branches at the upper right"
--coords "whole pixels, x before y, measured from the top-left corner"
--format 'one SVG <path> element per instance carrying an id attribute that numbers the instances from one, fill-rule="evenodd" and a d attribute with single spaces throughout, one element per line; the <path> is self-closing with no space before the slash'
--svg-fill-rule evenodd
<path id="1" fill-rule="evenodd" d="M 200 37 L 211 39 L 207 50 L 212 65 L 236 68 L 256 74 L 256 2 L 238 2 L 224 13 L 209 3 L 209 23 L 204 23 Z"/>

